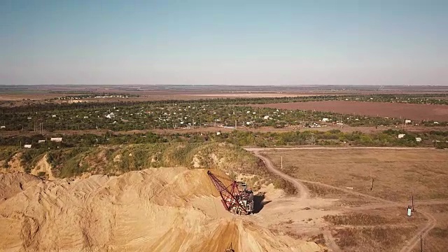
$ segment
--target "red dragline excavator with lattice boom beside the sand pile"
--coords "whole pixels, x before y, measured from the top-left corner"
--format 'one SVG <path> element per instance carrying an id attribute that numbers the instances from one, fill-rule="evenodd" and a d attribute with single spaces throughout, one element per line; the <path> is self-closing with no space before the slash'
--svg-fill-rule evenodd
<path id="1" fill-rule="evenodd" d="M 232 214 L 251 214 L 253 212 L 253 192 L 246 186 L 241 188 L 241 184 L 233 181 L 229 186 L 225 186 L 214 174 L 207 172 L 211 183 L 214 184 L 224 208 Z"/>

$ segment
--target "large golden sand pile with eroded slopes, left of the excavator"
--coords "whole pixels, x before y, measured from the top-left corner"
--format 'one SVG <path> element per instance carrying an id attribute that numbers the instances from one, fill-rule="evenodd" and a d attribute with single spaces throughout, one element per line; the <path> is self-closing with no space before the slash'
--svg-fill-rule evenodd
<path id="1" fill-rule="evenodd" d="M 320 251 L 226 212 L 205 169 L 0 174 L 0 188 L 0 251 Z"/>

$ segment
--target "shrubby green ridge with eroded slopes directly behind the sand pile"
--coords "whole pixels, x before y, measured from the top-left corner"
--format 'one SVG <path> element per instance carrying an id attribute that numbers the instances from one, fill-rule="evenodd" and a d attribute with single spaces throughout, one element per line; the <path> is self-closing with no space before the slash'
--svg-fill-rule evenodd
<path id="1" fill-rule="evenodd" d="M 13 148 L 10 148 L 13 150 Z M 219 143 L 160 143 L 70 147 L 52 150 L 29 149 L 21 153 L 20 164 L 31 172 L 42 158 L 50 164 L 52 175 L 59 178 L 91 174 L 121 174 L 150 167 L 188 167 L 222 169 L 228 172 L 253 172 L 259 162 L 238 146 Z M 8 168 L 8 157 L 0 157 Z"/>

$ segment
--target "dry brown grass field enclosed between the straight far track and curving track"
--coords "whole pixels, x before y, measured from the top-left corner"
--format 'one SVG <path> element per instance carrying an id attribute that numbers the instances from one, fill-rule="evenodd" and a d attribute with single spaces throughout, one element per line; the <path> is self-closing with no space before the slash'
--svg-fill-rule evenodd
<path id="1" fill-rule="evenodd" d="M 353 188 L 386 200 L 448 197 L 448 152 L 435 149 L 281 150 L 263 154 L 297 179 Z M 374 179 L 370 190 L 370 174 Z"/>

